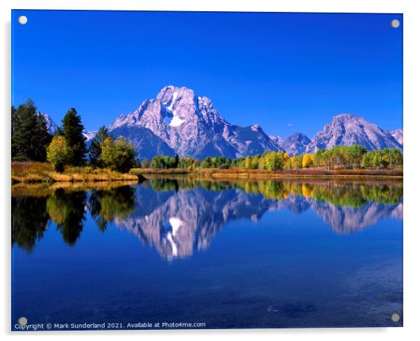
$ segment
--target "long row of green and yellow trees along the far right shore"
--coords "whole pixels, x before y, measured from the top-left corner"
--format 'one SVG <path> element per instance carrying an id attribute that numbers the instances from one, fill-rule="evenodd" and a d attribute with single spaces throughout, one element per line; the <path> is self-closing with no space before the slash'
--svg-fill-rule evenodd
<path id="1" fill-rule="evenodd" d="M 290 156 L 283 151 L 266 151 L 262 155 L 246 158 L 207 157 L 200 161 L 179 156 L 155 156 L 150 162 L 144 159 L 142 168 L 171 169 L 183 168 L 246 168 L 246 169 L 398 169 L 403 167 L 403 154 L 396 148 L 368 151 L 357 144 L 353 146 L 335 146 L 331 149 L 319 149 L 315 153 Z"/>

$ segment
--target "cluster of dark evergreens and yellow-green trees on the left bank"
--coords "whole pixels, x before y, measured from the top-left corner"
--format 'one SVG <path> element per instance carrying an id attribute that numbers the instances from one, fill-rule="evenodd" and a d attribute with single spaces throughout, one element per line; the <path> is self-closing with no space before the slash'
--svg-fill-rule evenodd
<path id="1" fill-rule="evenodd" d="M 66 165 L 106 167 L 118 172 L 128 172 L 135 166 L 134 146 L 123 137 L 112 137 L 105 126 L 99 128 L 87 149 L 82 119 L 75 108 L 68 110 L 52 135 L 44 115 L 29 99 L 17 108 L 12 106 L 11 130 L 14 161 L 48 161 L 57 172 Z"/>

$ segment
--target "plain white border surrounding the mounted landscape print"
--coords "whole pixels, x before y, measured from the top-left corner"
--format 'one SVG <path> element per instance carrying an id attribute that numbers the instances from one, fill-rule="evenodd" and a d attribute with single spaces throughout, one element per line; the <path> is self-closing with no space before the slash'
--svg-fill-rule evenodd
<path id="1" fill-rule="evenodd" d="M 419 223 L 416 204 L 419 202 L 419 33 L 420 17 L 417 1 L 368 1 L 368 0 L 2 0 L 1 6 L 1 217 L 3 273 L 1 280 L 0 310 L 1 332 L 7 338 L 24 338 L 23 333 L 10 332 L 10 9 L 91 9 L 91 10 L 218 10 L 218 11 L 259 11 L 259 12 L 352 12 L 352 13 L 403 13 L 404 14 L 404 327 L 403 328 L 319 328 L 319 329 L 251 329 L 251 330 L 207 330 L 207 331 L 119 331 L 119 332 L 34 332 L 31 338 L 45 338 L 49 335 L 64 339 L 85 338 L 158 338 L 161 340 L 186 340 L 197 338 L 240 338 L 241 340 L 287 338 L 294 340 L 352 340 L 370 338 L 372 340 L 396 340 L 419 335 Z M 16 339 L 17 338 L 17 339 Z"/>

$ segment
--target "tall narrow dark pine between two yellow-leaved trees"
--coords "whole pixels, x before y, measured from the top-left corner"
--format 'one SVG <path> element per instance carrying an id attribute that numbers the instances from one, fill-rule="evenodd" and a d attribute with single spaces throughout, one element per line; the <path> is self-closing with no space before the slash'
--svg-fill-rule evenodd
<path id="1" fill-rule="evenodd" d="M 86 138 L 83 135 L 82 119 L 77 114 L 76 109 L 71 108 L 61 122 L 63 123 L 63 136 L 69 149 L 69 164 L 73 166 L 83 165 L 86 160 L 87 149 L 84 144 Z"/>

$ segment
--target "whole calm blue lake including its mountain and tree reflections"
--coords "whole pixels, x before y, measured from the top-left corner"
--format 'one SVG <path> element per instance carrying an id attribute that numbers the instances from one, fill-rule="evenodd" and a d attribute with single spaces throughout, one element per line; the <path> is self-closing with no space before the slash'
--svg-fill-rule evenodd
<path id="1" fill-rule="evenodd" d="M 402 326 L 402 181 L 18 186 L 12 218 L 12 328 Z"/>

